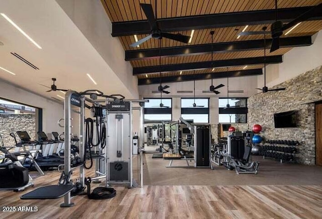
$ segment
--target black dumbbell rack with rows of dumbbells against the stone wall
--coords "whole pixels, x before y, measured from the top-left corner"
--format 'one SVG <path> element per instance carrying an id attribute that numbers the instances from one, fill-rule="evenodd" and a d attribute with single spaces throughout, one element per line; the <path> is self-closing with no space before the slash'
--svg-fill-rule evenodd
<path id="1" fill-rule="evenodd" d="M 264 144 L 262 146 L 263 150 L 260 153 L 263 155 L 264 159 L 266 157 L 271 157 L 279 159 L 281 163 L 285 161 L 295 161 L 295 153 L 297 151 L 295 145 L 299 145 L 298 141 L 266 140 L 266 142 L 270 144 Z M 288 145 L 288 147 L 285 145 Z"/>

